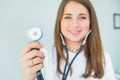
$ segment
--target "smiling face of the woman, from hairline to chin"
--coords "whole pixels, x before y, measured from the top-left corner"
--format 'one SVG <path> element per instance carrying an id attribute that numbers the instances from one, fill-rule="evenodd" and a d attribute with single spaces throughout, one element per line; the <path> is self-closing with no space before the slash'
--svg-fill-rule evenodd
<path id="1" fill-rule="evenodd" d="M 61 32 L 65 41 L 81 43 L 90 28 L 88 10 L 81 4 L 70 1 L 61 19 Z"/>

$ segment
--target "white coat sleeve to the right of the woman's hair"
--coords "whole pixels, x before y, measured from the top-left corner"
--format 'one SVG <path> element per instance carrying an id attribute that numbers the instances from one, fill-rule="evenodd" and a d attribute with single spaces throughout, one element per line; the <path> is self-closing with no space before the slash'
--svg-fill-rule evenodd
<path id="1" fill-rule="evenodd" d="M 106 80 L 115 80 L 114 69 L 110 55 L 105 53 L 105 77 Z"/>

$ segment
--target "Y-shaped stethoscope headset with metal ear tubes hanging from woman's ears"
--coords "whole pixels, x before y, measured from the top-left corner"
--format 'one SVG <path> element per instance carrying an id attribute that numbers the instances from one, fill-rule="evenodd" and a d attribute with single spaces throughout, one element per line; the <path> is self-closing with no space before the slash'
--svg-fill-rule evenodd
<path id="1" fill-rule="evenodd" d="M 82 49 L 84 48 L 84 45 L 85 45 L 85 43 L 86 43 L 86 40 L 87 40 L 89 34 L 91 33 L 91 31 L 92 31 L 91 29 L 88 31 L 88 33 L 87 33 L 87 35 L 85 36 L 82 44 L 80 45 L 79 51 L 76 53 L 76 55 L 73 57 L 73 59 L 71 60 L 70 63 L 68 62 L 69 55 L 68 55 L 67 46 L 66 46 L 66 44 L 65 44 L 65 41 L 64 41 L 64 39 L 63 39 L 62 34 L 60 34 L 61 39 L 62 39 L 62 44 L 63 44 L 64 49 L 65 49 L 65 52 L 66 52 L 66 54 L 67 54 L 67 55 L 66 55 L 66 63 L 65 63 L 65 67 L 64 67 L 64 72 L 63 72 L 62 80 L 67 80 L 67 76 L 68 76 L 68 73 L 69 73 L 70 68 L 71 68 L 71 66 L 72 66 L 72 63 L 74 62 L 74 60 L 76 59 L 76 57 L 78 56 L 78 54 L 79 54 L 79 53 L 82 51 Z M 69 65 L 68 65 L 68 63 L 69 63 Z M 67 67 L 67 66 L 68 66 L 68 67 Z"/>

